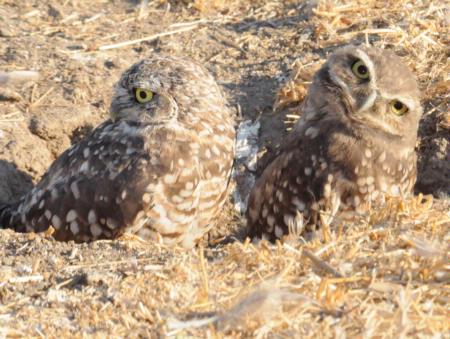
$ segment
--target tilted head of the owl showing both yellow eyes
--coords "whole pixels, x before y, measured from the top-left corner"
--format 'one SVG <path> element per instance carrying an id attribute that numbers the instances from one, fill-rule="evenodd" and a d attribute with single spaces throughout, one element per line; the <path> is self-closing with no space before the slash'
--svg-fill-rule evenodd
<path id="1" fill-rule="evenodd" d="M 414 75 L 398 56 L 375 47 L 347 46 L 316 73 L 305 113 L 347 121 L 364 137 L 414 146 L 422 115 L 419 94 Z"/>

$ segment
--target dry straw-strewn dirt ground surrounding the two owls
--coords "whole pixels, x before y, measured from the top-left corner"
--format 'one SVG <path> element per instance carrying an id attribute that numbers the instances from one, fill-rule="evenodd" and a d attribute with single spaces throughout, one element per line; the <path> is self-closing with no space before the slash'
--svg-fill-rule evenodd
<path id="1" fill-rule="evenodd" d="M 448 333 L 448 17 L 440 1 L 0 0 L 0 71 L 40 74 L 0 84 L 0 203 L 105 120 L 120 73 L 155 53 L 201 61 L 238 119 L 259 119 L 260 172 L 327 54 L 367 41 L 417 74 L 425 113 L 416 191 L 435 197 L 393 202 L 381 221 L 333 231 L 308 245 L 313 259 L 297 243 L 183 252 L 133 237 L 76 245 L 1 231 L 0 338 Z M 242 227 L 230 211 L 210 238 Z M 363 263 L 368 256 L 378 264 Z"/>

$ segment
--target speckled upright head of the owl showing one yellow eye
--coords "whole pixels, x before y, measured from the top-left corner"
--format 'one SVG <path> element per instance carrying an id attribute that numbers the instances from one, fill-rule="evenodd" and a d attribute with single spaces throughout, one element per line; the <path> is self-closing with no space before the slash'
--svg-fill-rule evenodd
<path id="1" fill-rule="evenodd" d="M 187 58 L 155 56 L 126 70 L 115 87 L 111 118 L 163 123 L 201 106 L 218 90 L 212 77 Z"/>

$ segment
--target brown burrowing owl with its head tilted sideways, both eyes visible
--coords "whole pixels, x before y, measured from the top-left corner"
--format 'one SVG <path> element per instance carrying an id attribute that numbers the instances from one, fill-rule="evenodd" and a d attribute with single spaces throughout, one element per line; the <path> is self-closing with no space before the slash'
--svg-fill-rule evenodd
<path id="1" fill-rule="evenodd" d="M 373 47 L 338 49 L 251 192 L 250 234 L 302 234 L 338 211 L 361 212 L 386 194 L 410 193 L 421 114 L 417 82 L 399 57 Z"/>

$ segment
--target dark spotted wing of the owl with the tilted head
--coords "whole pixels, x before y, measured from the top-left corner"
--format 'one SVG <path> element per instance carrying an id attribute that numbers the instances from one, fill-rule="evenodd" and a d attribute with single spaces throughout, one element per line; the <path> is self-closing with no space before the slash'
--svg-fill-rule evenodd
<path id="1" fill-rule="evenodd" d="M 321 214 L 336 213 L 340 196 L 352 184 L 330 168 L 326 149 L 323 143 L 304 138 L 285 144 L 250 194 L 250 236 L 265 235 L 273 241 L 285 234 L 301 235 L 320 223 Z"/>

